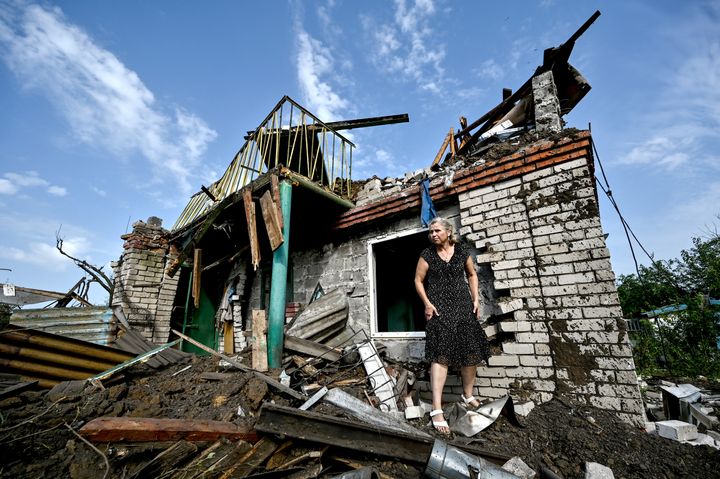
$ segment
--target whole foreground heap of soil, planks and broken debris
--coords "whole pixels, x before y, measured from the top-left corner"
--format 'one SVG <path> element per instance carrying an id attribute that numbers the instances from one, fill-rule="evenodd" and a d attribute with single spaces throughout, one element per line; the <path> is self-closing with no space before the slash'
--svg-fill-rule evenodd
<path id="1" fill-rule="evenodd" d="M 214 356 L 161 370 L 137 364 L 104 384 L 69 381 L 5 398 L 1 475 L 330 478 L 371 468 L 379 474 L 373 477 L 417 478 L 428 457 L 416 454 L 439 438 L 488 464 L 514 458 L 535 477 L 583 478 L 595 463 L 616 478 L 720 477 L 717 449 L 648 434 L 565 399 L 535 407 L 519 423 L 503 415 L 475 436 L 447 438 L 427 415 L 401 420 L 402 413 L 382 412 L 374 381 L 355 356 L 328 363 L 294 355 L 287 364 L 283 376 L 291 387 L 326 399 L 303 403 L 272 387 L 272 379 Z M 342 379 L 337 369 L 325 369 L 329 364 L 342 364 Z M 413 375 L 385 366 L 396 377 Z M 281 380 L 277 373 L 266 374 Z M 716 397 L 720 388 L 704 390 Z M 414 395 L 406 391 L 401 408 Z"/>

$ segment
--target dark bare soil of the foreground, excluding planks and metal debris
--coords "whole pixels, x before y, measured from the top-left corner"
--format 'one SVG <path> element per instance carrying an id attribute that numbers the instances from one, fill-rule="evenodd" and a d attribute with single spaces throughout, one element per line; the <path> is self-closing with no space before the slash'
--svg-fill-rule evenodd
<path id="1" fill-rule="evenodd" d="M 171 443 L 96 444 L 98 451 L 94 451 L 70 428 L 78 430 L 88 421 L 103 416 L 211 419 L 252 425 L 264 401 L 299 406 L 297 400 L 269 389 L 265 382 L 248 373 L 219 369 L 215 358 L 194 357 L 191 367 L 181 371 L 186 366 L 178 364 L 157 371 L 140 365 L 124 371 L 115 385 L 108 384 L 104 389 L 87 386 L 84 391 L 64 397 L 31 391 L 0 401 L 0 476 L 104 477 L 105 460 L 99 451 L 110 464 L 107 477 L 223 477 L 222 469 L 206 470 L 199 475 L 183 474 L 183 462 L 173 464 L 162 474 L 143 476 L 138 474 L 140 467 Z M 207 374 L 217 371 L 229 376 L 212 380 Z M 362 387 L 347 391 L 365 399 Z M 238 414 L 239 407 L 244 417 Z M 312 410 L 347 419 L 340 410 L 325 404 L 318 404 Z M 520 456 L 536 471 L 545 467 L 563 478 L 585 477 L 586 461 L 610 467 L 617 479 L 720 477 L 717 449 L 647 434 L 598 409 L 556 399 L 535 407 L 520 420 L 524 427 L 513 426 L 501 416 L 474 438 L 475 445 L 496 454 Z M 434 434 L 427 417 L 413 420 L 411 424 Z M 279 439 L 279 443 L 287 440 Z M 467 438 L 462 439 L 467 442 Z M 210 443 L 196 445 L 197 454 L 201 454 Z M 356 467 L 372 466 L 385 474 L 382 477 L 389 478 L 417 478 L 424 471 L 422 464 L 402 464 L 391 458 L 326 448 L 322 444 L 294 442 L 283 454 L 299 456 L 309 450 L 322 451 L 322 454 L 309 455 L 298 464 L 305 468 L 304 473 L 291 476 L 279 472 L 271 477 L 334 477 L 349 470 L 347 462 Z M 266 465 L 260 465 L 252 474 L 264 473 Z"/>

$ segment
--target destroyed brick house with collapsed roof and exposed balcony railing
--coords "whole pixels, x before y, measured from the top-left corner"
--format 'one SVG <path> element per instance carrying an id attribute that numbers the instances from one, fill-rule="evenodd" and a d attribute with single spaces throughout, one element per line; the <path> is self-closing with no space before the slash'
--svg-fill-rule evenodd
<path id="1" fill-rule="evenodd" d="M 588 25 L 546 50 L 497 107 L 470 125 L 461 119 L 431 167 L 404 178 L 351 181 L 354 145 L 342 131 L 406 117 L 324 123 L 284 97 L 171 231 L 151 220 L 124 236 L 114 304 L 147 339 L 182 330 L 228 354 L 266 351 L 275 368 L 297 341 L 335 346 L 358 332 L 388 357 L 422 361 L 413 275 L 431 200 L 475 252 L 493 346 L 476 394 L 563 395 L 641 424 L 592 137 L 563 128 L 590 89 L 568 63 Z M 446 393 L 459 397 L 459 378 Z"/>

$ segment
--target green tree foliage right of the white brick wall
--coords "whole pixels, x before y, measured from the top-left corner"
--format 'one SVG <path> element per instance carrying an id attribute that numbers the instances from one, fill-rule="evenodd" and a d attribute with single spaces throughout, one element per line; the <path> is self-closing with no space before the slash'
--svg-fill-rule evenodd
<path id="1" fill-rule="evenodd" d="M 633 355 L 645 374 L 668 370 L 682 376 L 720 377 L 720 308 L 709 298 L 720 298 L 720 236 L 694 238 L 679 258 L 640 267 L 640 275 L 622 275 L 618 295 L 626 318 L 666 306 L 682 310 L 642 319 L 633 335 Z"/>

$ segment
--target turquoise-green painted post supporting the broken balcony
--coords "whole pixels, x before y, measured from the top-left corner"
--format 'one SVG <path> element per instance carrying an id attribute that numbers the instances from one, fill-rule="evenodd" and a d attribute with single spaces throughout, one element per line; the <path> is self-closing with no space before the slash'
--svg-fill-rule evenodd
<path id="1" fill-rule="evenodd" d="M 292 185 L 280 182 L 280 208 L 283 215 L 283 243 L 273 253 L 273 269 L 270 278 L 270 307 L 268 312 L 268 366 L 282 366 L 283 329 L 285 328 L 285 304 L 287 303 L 287 267 L 290 244 L 290 205 Z"/>

